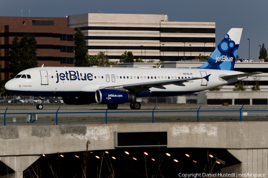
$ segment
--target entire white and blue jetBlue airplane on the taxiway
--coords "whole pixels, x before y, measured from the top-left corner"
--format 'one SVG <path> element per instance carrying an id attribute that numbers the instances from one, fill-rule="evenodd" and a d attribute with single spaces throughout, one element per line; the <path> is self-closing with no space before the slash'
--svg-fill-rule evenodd
<path id="1" fill-rule="evenodd" d="M 6 90 L 27 96 L 62 96 L 66 104 L 118 104 L 136 98 L 178 96 L 228 85 L 261 72 L 233 71 L 242 28 L 232 28 L 208 60 L 191 68 L 38 67 L 21 71 L 5 85 Z M 37 109 L 43 109 L 40 103 Z"/>

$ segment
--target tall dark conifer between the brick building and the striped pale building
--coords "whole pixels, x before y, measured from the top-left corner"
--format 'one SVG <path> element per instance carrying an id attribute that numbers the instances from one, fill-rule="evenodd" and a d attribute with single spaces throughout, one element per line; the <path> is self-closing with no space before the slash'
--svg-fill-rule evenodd
<path id="1" fill-rule="evenodd" d="M 85 36 L 80 30 L 77 28 L 77 31 L 74 34 L 74 66 L 75 67 L 89 67 L 89 60 L 87 58 L 88 49 L 86 48 Z"/>

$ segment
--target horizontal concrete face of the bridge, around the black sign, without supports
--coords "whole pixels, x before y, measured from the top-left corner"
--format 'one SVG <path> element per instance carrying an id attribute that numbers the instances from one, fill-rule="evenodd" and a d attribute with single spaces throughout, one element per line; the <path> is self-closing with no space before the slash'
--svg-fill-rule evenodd
<path id="1" fill-rule="evenodd" d="M 168 131 L 168 147 L 268 148 L 267 122 L 1 126 L 0 156 L 114 149 L 115 131 Z"/>

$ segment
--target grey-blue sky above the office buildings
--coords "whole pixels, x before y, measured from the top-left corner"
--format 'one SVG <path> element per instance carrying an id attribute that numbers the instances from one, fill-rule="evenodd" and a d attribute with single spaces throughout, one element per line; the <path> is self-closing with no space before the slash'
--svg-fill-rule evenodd
<path id="1" fill-rule="evenodd" d="M 238 55 L 258 59 L 268 47 L 267 0 L 0 0 L 1 16 L 66 17 L 84 13 L 165 14 L 169 21 L 215 22 L 216 46 L 230 28 L 243 28 Z M 248 40 L 250 39 L 250 40 Z M 249 50 L 250 48 L 250 50 Z"/>

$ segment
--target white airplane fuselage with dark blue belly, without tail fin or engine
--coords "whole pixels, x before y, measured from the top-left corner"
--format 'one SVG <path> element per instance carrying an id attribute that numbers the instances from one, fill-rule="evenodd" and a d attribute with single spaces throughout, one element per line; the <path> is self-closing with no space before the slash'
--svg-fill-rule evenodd
<path id="1" fill-rule="evenodd" d="M 94 96 L 100 87 L 123 86 L 126 84 L 174 80 L 191 77 L 206 79 L 184 82 L 185 86 L 165 85 L 166 89 L 150 88 L 153 96 L 177 96 L 216 88 L 246 77 L 223 80 L 220 75 L 242 74 L 243 72 L 190 69 L 190 68 L 110 68 L 110 67 L 38 67 L 21 71 L 18 75 L 31 78 L 14 78 L 5 88 L 10 92 L 29 96 Z"/>

